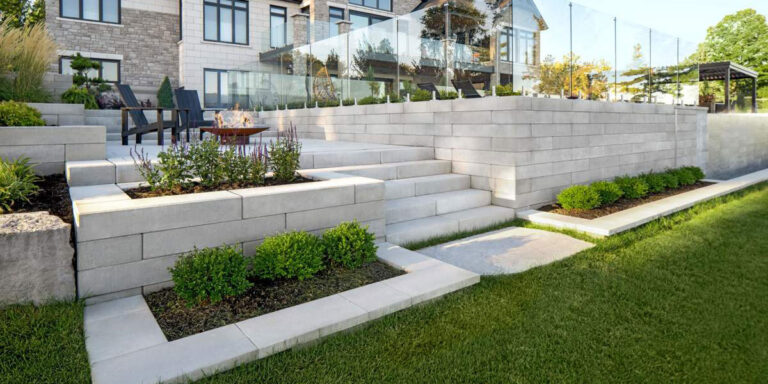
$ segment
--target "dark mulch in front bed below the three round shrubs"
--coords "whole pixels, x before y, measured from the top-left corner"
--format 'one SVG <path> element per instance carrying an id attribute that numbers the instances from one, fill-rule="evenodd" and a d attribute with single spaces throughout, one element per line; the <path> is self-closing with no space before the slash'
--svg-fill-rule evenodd
<path id="1" fill-rule="evenodd" d="M 357 269 L 326 269 L 304 281 L 253 279 L 254 285 L 246 293 L 199 307 L 187 307 L 172 288 L 145 298 L 170 341 L 402 274 L 374 261 Z"/>

